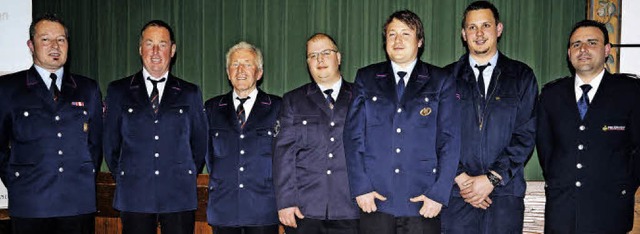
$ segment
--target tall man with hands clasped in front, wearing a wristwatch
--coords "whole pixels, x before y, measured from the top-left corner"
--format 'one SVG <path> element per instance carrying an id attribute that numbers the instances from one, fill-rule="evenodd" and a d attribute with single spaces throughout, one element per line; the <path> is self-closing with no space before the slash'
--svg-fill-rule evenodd
<path id="1" fill-rule="evenodd" d="M 498 51 L 502 29 L 493 4 L 471 3 L 462 19 L 468 52 L 447 66 L 462 105 L 462 153 L 445 233 L 522 233 L 538 86 L 529 66 Z"/>

